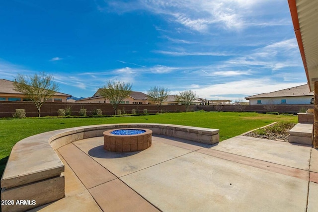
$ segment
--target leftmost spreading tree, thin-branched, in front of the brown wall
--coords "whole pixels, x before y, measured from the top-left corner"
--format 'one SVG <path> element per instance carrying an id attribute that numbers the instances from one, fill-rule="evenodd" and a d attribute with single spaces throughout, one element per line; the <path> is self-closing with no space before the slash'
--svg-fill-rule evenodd
<path id="1" fill-rule="evenodd" d="M 41 106 L 59 89 L 59 86 L 54 82 L 53 76 L 44 72 L 34 74 L 34 76 L 18 74 L 13 85 L 14 90 L 23 93 L 26 98 L 34 102 L 38 109 L 39 117 Z"/>

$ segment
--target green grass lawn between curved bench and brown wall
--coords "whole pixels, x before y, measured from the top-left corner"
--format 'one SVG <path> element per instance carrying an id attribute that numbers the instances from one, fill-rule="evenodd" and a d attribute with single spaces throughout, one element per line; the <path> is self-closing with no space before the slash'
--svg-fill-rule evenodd
<path id="1" fill-rule="evenodd" d="M 0 175 L 2 175 L 11 149 L 17 141 L 52 130 L 112 123 L 162 123 L 219 129 L 220 141 L 223 141 L 276 121 L 296 123 L 297 116 L 246 112 L 188 112 L 103 118 L 0 119 Z"/>

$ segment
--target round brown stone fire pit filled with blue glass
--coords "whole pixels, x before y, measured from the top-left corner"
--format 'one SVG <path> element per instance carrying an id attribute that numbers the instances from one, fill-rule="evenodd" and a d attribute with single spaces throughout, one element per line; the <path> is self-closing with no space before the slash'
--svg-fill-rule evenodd
<path id="1" fill-rule="evenodd" d="M 149 129 L 112 129 L 103 133 L 104 149 L 116 152 L 141 151 L 151 146 L 153 131 Z"/>

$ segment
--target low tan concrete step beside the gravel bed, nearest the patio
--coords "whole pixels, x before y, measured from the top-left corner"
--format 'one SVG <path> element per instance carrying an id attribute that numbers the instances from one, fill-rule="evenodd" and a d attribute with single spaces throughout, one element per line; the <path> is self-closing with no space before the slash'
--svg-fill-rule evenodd
<path id="1" fill-rule="evenodd" d="M 313 124 L 298 123 L 289 131 L 288 142 L 312 145 Z"/>

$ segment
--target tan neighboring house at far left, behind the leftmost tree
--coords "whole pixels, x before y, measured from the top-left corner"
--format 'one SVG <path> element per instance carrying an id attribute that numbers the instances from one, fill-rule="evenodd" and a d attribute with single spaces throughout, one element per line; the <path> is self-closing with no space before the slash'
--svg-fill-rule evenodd
<path id="1" fill-rule="evenodd" d="M 13 81 L 0 79 L 0 101 L 30 101 L 23 93 L 14 90 Z M 66 102 L 72 95 L 56 92 L 48 102 Z"/>

